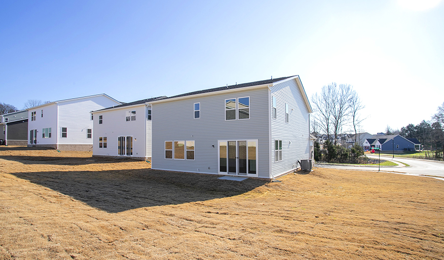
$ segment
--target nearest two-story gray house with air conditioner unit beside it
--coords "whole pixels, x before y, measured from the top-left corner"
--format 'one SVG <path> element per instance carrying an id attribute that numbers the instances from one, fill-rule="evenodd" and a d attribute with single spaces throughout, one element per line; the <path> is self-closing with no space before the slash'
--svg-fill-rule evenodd
<path id="1" fill-rule="evenodd" d="M 150 102 L 152 169 L 273 179 L 310 158 L 310 103 L 298 75 Z"/>

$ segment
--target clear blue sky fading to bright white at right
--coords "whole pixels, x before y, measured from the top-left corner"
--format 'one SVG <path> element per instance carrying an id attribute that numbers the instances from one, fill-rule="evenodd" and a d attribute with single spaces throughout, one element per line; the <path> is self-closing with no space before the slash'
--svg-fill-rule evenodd
<path id="1" fill-rule="evenodd" d="M 440 0 L 1 0 L 0 102 L 131 102 L 298 74 L 309 98 L 353 85 L 375 134 L 443 104 L 443 46 Z"/>

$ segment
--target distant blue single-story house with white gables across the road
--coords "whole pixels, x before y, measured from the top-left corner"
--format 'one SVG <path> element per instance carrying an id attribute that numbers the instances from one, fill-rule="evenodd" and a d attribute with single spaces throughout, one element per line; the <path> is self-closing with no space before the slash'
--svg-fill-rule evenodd
<path id="1" fill-rule="evenodd" d="M 412 142 L 400 135 L 375 135 L 372 138 L 366 139 L 362 145 L 364 149 L 379 148 L 381 150 L 414 151 L 415 147 L 421 144 L 418 141 L 416 143 Z"/>

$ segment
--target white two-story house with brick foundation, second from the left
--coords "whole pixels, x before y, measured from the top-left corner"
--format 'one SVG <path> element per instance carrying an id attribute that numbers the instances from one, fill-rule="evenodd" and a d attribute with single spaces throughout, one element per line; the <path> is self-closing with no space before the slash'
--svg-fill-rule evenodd
<path id="1" fill-rule="evenodd" d="M 29 108 L 28 147 L 91 150 L 93 118 L 90 112 L 121 104 L 106 94 L 98 94 Z"/>

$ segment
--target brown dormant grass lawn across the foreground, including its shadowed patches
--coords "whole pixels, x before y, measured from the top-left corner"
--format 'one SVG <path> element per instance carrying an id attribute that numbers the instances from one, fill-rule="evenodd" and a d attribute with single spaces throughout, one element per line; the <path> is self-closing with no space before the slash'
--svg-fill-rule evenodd
<path id="1" fill-rule="evenodd" d="M 1 147 L 0 259 L 444 259 L 442 180 L 321 168 L 280 180 Z"/>

